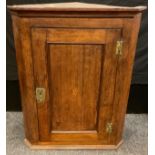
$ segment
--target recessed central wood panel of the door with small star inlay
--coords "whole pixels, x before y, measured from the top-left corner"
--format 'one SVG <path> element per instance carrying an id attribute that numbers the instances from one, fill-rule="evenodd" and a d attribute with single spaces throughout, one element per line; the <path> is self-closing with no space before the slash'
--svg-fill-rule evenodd
<path id="1" fill-rule="evenodd" d="M 49 45 L 51 130 L 96 129 L 101 45 Z"/>

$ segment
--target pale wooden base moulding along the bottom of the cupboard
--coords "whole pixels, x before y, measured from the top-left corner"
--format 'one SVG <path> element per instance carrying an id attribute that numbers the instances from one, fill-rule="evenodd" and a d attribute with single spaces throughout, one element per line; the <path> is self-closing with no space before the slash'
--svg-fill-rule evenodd
<path id="1" fill-rule="evenodd" d="M 25 144 L 30 149 L 118 149 L 119 146 L 122 144 L 122 140 L 117 145 L 58 145 L 58 144 L 32 144 L 29 140 L 24 139 Z"/>

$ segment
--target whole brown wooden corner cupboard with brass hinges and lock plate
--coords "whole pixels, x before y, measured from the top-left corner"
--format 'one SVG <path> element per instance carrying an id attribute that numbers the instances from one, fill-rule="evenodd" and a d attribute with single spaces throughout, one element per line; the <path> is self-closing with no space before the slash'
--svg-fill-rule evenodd
<path id="1" fill-rule="evenodd" d="M 53 3 L 8 9 L 26 144 L 118 148 L 146 7 Z"/>

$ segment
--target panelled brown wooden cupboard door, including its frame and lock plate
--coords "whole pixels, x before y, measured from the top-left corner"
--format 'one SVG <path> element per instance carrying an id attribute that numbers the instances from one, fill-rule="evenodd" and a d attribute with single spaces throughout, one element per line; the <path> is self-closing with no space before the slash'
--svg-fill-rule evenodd
<path id="1" fill-rule="evenodd" d="M 121 30 L 32 28 L 31 37 L 40 141 L 110 143 Z"/>

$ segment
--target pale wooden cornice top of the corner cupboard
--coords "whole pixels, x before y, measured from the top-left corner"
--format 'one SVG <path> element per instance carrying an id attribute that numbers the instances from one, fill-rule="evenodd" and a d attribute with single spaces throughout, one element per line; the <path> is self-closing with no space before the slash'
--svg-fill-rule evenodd
<path id="1" fill-rule="evenodd" d="M 90 3 L 51 3 L 51 4 L 25 4 L 8 6 L 12 11 L 143 11 L 146 6 L 111 6 Z"/>

